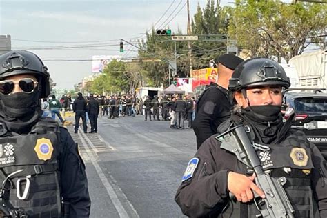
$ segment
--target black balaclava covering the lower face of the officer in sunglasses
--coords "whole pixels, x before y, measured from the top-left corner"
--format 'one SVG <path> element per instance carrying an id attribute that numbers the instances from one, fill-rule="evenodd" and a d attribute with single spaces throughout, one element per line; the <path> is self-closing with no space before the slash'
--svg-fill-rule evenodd
<path id="1" fill-rule="evenodd" d="M 39 84 L 41 84 L 39 82 Z M 41 88 L 38 85 L 32 93 L 17 92 L 10 95 L 0 94 L 0 121 L 12 132 L 28 132 L 41 117 L 39 106 Z"/>

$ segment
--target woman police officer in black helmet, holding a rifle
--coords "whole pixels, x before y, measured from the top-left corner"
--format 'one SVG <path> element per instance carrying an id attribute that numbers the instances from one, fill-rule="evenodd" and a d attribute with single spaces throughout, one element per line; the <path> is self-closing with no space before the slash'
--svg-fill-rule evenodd
<path id="1" fill-rule="evenodd" d="M 242 62 L 228 88 L 237 108 L 224 126 L 248 127 L 264 172 L 286 178 L 283 188 L 294 217 L 327 217 L 324 159 L 303 132 L 290 128 L 291 120 L 282 121 L 282 96 L 289 86 L 284 69 L 275 61 Z M 261 198 L 269 193 L 255 184 L 253 168 L 221 148 L 216 137 L 207 139 L 190 160 L 175 196 L 177 204 L 190 217 L 261 217 L 254 193 Z"/>

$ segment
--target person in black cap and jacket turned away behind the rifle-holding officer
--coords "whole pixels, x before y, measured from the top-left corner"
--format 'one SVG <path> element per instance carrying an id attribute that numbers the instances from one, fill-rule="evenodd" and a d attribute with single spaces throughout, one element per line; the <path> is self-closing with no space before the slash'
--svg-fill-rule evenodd
<path id="1" fill-rule="evenodd" d="M 197 101 L 197 110 L 193 129 L 197 136 L 197 148 L 211 135 L 217 133 L 217 127 L 230 117 L 231 104 L 228 101 L 228 80 L 233 70 L 243 59 L 234 54 L 224 54 L 217 59 L 217 84 L 211 83 Z"/>

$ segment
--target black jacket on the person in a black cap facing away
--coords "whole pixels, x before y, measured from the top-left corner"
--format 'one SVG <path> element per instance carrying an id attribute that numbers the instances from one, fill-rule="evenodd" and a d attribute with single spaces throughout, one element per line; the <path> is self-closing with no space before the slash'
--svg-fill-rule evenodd
<path id="1" fill-rule="evenodd" d="M 217 133 L 217 127 L 230 117 L 232 106 L 227 92 L 228 90 L 221 86 L 209 86 L 199 97 L 197 114 L 193 121 L 198 149 L 208 137 Z"/>

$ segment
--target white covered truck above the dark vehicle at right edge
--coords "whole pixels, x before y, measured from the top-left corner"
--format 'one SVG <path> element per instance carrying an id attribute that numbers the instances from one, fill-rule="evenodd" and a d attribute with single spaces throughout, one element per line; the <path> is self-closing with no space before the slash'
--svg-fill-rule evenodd
<path id="1" fill-rule="evenodd" d="M 290 59 L 299 77 L 299 88 L 327 88 L 327 50 L 303 53 Z"/>

